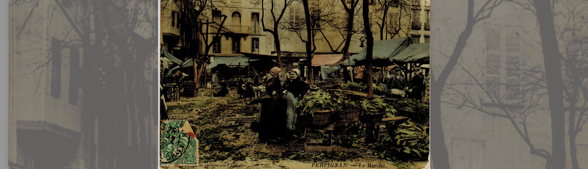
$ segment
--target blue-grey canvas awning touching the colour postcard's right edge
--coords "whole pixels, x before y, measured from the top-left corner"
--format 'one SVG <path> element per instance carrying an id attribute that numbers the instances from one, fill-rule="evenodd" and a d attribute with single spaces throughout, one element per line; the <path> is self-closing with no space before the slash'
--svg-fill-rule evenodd
<path id="1" fill-rule="evenodd" d="M 415 43 L 409 45 L 402 52 L 390 58 L 393 63 L 421 63 L 429 64 L 430 60 L 430 43 Z"/>

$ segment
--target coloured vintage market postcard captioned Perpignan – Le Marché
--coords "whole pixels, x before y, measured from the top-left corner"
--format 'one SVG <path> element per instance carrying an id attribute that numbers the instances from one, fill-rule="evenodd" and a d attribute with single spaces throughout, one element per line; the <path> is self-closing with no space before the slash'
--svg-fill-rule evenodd
<path id="1" fill-rule="evenodd" d="M 429 168 L 430 1 L 160 12 L 162 168 Z"/>

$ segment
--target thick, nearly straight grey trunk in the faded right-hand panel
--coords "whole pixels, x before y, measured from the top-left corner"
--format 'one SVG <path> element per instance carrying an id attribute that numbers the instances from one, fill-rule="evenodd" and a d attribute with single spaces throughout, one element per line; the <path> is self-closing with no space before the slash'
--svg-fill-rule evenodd
<path id="1" fill-rule="evenodd" d="M 565 114 L 563 110 L 562 55 L 559 53 L 550 1 L 533 0 L 539 20 L 547 94 L 552 125 L 552 168 L 566 168 Z M 571 121 L 570 121 L 571 122 Z"/>

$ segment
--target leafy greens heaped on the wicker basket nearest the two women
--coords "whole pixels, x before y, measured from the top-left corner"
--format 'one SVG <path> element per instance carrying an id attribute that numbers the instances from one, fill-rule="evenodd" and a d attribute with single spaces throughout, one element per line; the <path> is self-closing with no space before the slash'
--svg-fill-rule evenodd
<path id="1" fill-rule="evenodd" d="M 326 93 L 315 93 L 307 95 L 298 101 L 298 107 L 300 116 L 310 115 L 313 116 L 317 110 L 325 110 L 326 107 L 335 107 L 337 101 L 331 99 L 329 94 Z"/>

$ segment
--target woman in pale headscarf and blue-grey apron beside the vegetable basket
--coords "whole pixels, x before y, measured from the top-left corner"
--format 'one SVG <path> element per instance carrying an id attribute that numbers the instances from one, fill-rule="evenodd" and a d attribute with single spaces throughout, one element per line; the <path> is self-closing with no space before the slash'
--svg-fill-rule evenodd
<path id="1" fill-rule="evenodd" d="M 296 114 L 296 104 L 298 103 L 298 99 L 303 97 L 310 86 L 300 79 L 300 70 L 292 69 L 290 71 L 290 80 L 284 83 L 283 89 L 285 89 L 282 93 L 285 94 L 286 99 L 286 128 L 289 132 L 293 132 L 296 130 L 296 118 L 298 114 Z"/>

